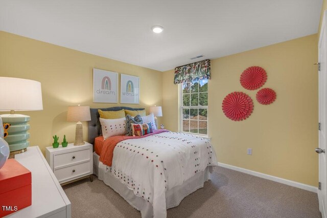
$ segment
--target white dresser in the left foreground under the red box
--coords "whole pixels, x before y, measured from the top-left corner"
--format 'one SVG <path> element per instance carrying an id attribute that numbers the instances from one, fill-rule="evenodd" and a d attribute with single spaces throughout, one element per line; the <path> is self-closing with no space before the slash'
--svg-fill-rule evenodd
<path id="1" fill-rule="evenodd" d="M 71 217 L 71 202 L 45 161 L 38 146 L 15 155 L 16 161 L 32 173 L 32 205 L 5 217 Z"/>

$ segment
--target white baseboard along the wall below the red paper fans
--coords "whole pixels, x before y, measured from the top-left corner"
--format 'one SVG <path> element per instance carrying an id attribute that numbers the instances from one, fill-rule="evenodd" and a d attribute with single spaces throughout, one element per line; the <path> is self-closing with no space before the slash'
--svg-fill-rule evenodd
<path id="1" fill-rule="evenodd" d="M 270 175 L 267 175 L 265 173 L 256 172 L 256 171 L 252 171 L 252 170 L 249 170 L 249 169 L 244 169 L 244 168 L 241 168 L 241 167 L 232 166 L 232 165 L 228 165 L 228 164 L 224 164 L 224 163 L 220 163 L 220 162 L 218 162 L 218 166 L 225 167 L 225 168 L 232 169 L 232 170 L 236 170 L 236 171 L 239 171 L 239 172 L 244 172 L 244 173 L 247 173 L 247 174 L 255 176 L 255 177 L 264 178 L 264 179 L 267 179 L 267 180 L 282 183 L 282 184 L 285 184 L 285 185 L 290 185 L 290 186 L 300 188 L 300 189 L 304 189 L 304 190 L 307 190 L 307 191 L 312 191 L 312 192 L 315 192 L 315 193 L 317 193 L 317 191 L 318 191 L 317 187 L 314 187 L 314 186 L 311 186 L 311 185 L 306 185 L 306 184 L 295 182 L 295 181 L 291 181 L 291 180 L 282 179 L 282 178 L 279 178 L 279 177 L 270 176 Z"/>

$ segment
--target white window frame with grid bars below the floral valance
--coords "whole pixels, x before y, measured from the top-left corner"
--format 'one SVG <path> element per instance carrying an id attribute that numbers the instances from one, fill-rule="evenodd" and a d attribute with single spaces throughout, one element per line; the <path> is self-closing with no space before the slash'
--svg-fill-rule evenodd
<path id="1" fill-rule="evenodd" d="M 207 79 L 207 83 L 209 85 L 209 79 Z M 200 82 L 199 82 L 200 84 Z M 209 110 L 208 110 L 208 105 L 209 105 L 209 102 L 208 102 L 208 105 L 206 106 L 183 106 L 183 83 L 179 83 L 179 132 L 180 133 L 186 133 L 186 134 L 192 134 L 192 135 L 196 135 L 196 136 L 200 136 L 200 137 L 205 137 L 205 138 L 209 138 L 209 135 L 208 135 L 208 130 L 209 130 Z M 209 97 L 209 92 L 208 90 L 206 92 L 200 92 L 200 87 L 198 88 L 198 92 L 195 92 L 198 94 L 198 104 L 200 103 L 200 93 L 207 93 L 207 96 Z M 191 91 L 190 91 L 190 104 L 191 104 Z M 206 134 L 200 134 L 200 133 L 191 133 L 190 131 L 189 132 L 184 132 L 183 131 L 183 109 L 206 109 L 207 111 L 207 119 L 206 119 L 206 122 L 207 122 L 207 132 Z M 198 112 L 198 115 L 199 115 L 199 112 Z M 191 121 L 191 119 L 188 119 L 189 121 Z M 200 120 L 194 120 L 194 121 L 198 121 L 198 132 L 199 132 L 199 121 Z M 203 120 L 204 121 L 204 120 Z M 189 130 L 190 130 L 190 123 L 189 122 Z"/>

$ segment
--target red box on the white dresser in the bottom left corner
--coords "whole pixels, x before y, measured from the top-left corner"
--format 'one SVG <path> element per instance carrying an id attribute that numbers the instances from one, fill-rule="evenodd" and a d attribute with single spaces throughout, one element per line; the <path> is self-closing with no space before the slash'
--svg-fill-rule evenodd
<path id="1" fill-rule="evenodd" d="M 0 169 L 0 217 L 32 205 L 32 176 L 15 159 Z"/>

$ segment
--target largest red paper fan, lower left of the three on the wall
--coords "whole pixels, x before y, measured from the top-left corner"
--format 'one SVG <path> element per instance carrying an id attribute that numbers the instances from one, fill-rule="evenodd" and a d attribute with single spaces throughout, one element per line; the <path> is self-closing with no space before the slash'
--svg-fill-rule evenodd
<path id="1" fill-rule="evenodd" d="M 223 100 L 222 109 L 231 120 L 245 120 L 253 111 L 253 101 L 243 92 L 232 92 Z"/>

